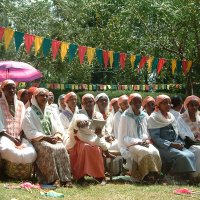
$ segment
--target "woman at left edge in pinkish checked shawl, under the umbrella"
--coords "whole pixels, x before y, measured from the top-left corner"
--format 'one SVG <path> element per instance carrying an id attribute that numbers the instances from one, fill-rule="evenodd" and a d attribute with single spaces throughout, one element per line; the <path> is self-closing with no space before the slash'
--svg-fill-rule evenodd
<path id="1" fill-rule="evenodd" d="M 37 155 L 32 144 L 23 137 L 22 121 L 25 107 L 17 100 L 14 81 L 5 80 L 1 89 L 0 154 L 2 159 L 6 160 L 7 175 L 12 178 L 27 179 L 30 178 L 32 164 Z"/>

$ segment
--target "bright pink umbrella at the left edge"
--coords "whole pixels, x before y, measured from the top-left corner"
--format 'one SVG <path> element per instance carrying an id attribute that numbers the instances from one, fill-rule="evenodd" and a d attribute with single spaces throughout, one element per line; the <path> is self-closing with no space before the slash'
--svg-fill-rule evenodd
<path id="1" fill-rule="evenodd" d="M 0 61 L 0 82 L 12 79 L 16 82 L 28 82 L 41 78 L 42 73 L 24 62 Z"/>

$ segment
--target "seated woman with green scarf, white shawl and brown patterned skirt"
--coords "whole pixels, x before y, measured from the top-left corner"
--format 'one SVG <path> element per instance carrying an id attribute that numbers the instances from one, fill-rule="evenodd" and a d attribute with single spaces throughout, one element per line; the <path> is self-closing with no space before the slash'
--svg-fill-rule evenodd
<path id="1" fill-rule="evenodd" d="M 33 93 L 32 106 L 26 110 L 23 130 L 37 151 L 37 172 L 42 183 L 71 187 L 68 153 L 62 143 L 64 130 L 55 121 L 47 104 L 48 90 Z"/>

